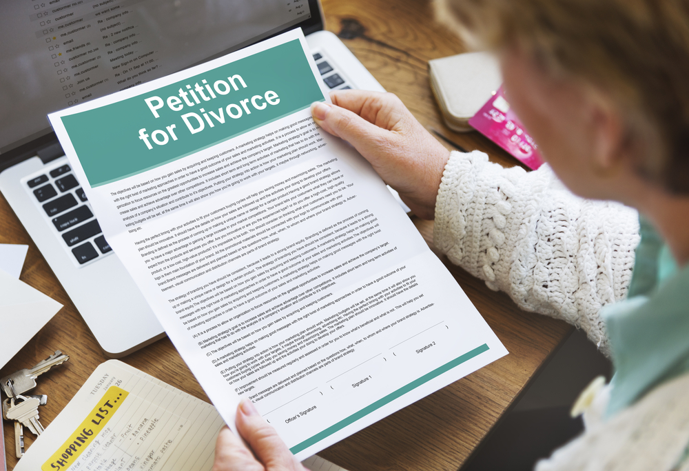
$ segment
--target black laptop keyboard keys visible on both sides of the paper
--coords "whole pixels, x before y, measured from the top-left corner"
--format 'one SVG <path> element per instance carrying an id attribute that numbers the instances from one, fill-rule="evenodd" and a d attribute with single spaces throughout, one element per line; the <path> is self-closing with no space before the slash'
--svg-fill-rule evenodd
<path id="1" fill-rule="evenodd" d="M 328 88 L 351 88 L 322 52 L 313 54 L 313 60 Z M 84 265 L 94 262 L 112 252 L 86 194 L 68 164 L 56 163 L 54 168 L 31 177 L 25 183 L 34 201 L 43 208 L 56 236 L 62 239 L 63 247 L 72 254 L 76 263 Z"/>

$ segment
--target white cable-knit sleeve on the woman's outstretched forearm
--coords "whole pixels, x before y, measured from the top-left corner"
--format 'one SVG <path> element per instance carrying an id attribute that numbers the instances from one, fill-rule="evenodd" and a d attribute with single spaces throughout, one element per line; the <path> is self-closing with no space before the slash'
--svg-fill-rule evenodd
<path id="1" fill-rule="evenodd" d="M 575 197 L 547 165 L 525 172 L 482 152 L 452 152 L 433 242 L 520 308 L 584 329 L 609 354 L 598 313 L 626 296 L 639 243 L 635 210 Z"/>

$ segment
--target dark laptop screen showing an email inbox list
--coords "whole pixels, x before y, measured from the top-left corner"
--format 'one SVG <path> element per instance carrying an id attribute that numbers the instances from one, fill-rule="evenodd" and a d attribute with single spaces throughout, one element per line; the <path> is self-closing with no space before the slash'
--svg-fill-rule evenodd
<path id="1" fill-rule="evenodd" d="M 12 0 L 0 14 L 0 152 L 46 115 L 301 26 L 316 0 Z"/>

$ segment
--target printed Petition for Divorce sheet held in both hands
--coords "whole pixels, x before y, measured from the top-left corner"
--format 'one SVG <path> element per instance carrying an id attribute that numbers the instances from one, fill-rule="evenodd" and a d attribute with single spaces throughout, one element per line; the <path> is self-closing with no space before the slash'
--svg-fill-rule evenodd
<path id="1" fill-rule="evenodd" d="M 328 96 L 309 55 L 289 32 L 50 115 L 218 412 L 234 428 L 249 397 L 302 459 L 506 354 L 369 164 L 313 122 Z"/>

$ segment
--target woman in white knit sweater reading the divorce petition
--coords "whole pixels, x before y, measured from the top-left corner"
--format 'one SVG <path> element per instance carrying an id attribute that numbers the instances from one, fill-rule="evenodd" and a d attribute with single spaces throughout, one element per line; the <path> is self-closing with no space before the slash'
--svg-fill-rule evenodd
<path id="1" fill-rule="evenodd" d="M 584 434 L 537 470 L 689 470 L 689 1 L 446 0 L 438 12 L 497 54 L 548 166 L 450 153 L 389 94 L 335 92 L 314 119 L 435 217 L 453 263 L 612 357 L 611 384 L 580 401 Z M 248 401 L 237 427 L 253 454 L 225 429 L 216 470 L 302 469 Z"/>

